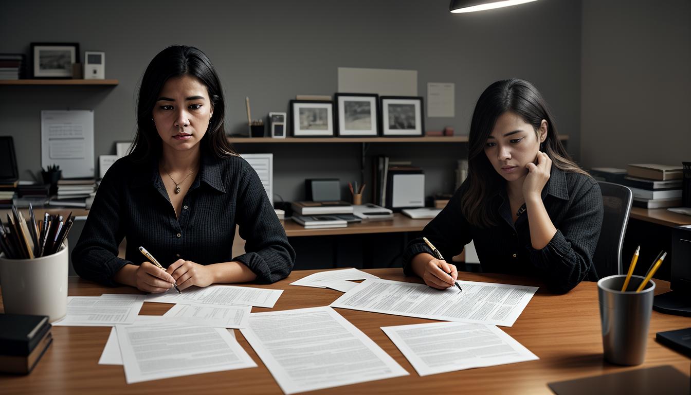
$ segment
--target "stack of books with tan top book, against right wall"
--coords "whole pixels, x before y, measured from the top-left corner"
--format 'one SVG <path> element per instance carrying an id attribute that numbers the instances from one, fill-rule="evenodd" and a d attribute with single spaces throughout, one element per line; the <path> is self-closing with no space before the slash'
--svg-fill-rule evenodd
<path id="1" fill-rule="evenodd" d="M 681 166 L 636 163 L 618 183 L 631 189 L 635 207 L 669 208 L 681 205 L 681 177 Z"/>

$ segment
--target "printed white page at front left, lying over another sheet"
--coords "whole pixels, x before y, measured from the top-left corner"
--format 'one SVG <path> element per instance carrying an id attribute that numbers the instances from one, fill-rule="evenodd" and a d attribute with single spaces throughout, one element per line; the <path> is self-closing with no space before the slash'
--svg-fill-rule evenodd
<path id="1" fill-rule="evenodd" d="M 145 323 L 115 332 L 128 384 L 257 366 L 227 329 Z"/>

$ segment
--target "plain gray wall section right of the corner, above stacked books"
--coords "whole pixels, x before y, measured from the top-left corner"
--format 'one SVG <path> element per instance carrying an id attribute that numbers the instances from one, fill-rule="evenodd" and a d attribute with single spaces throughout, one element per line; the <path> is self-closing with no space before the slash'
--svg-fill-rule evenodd
<path id="1" fill-rule="evenodd" d="M 585 167 L 691 160 L 691 1 L 583 0 Z"/>

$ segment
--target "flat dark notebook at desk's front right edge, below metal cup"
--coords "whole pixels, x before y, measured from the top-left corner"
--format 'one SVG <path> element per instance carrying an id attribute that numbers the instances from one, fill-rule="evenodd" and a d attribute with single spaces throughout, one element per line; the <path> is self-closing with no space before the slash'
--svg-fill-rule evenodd
<path id="1" fill-rule="evenodd" d="M 688 395 L 689 376 L 670 365 L 547 384 L 557 395 Z"/>

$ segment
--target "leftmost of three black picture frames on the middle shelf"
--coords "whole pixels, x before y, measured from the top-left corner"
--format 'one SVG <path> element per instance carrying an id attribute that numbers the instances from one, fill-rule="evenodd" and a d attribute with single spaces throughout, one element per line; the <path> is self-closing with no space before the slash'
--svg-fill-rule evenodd
<path id="1" fill-rule="evenodd" d="M 290 100 L 290 130 L 293 137 L 333 137 L 334 102 Z"/>

